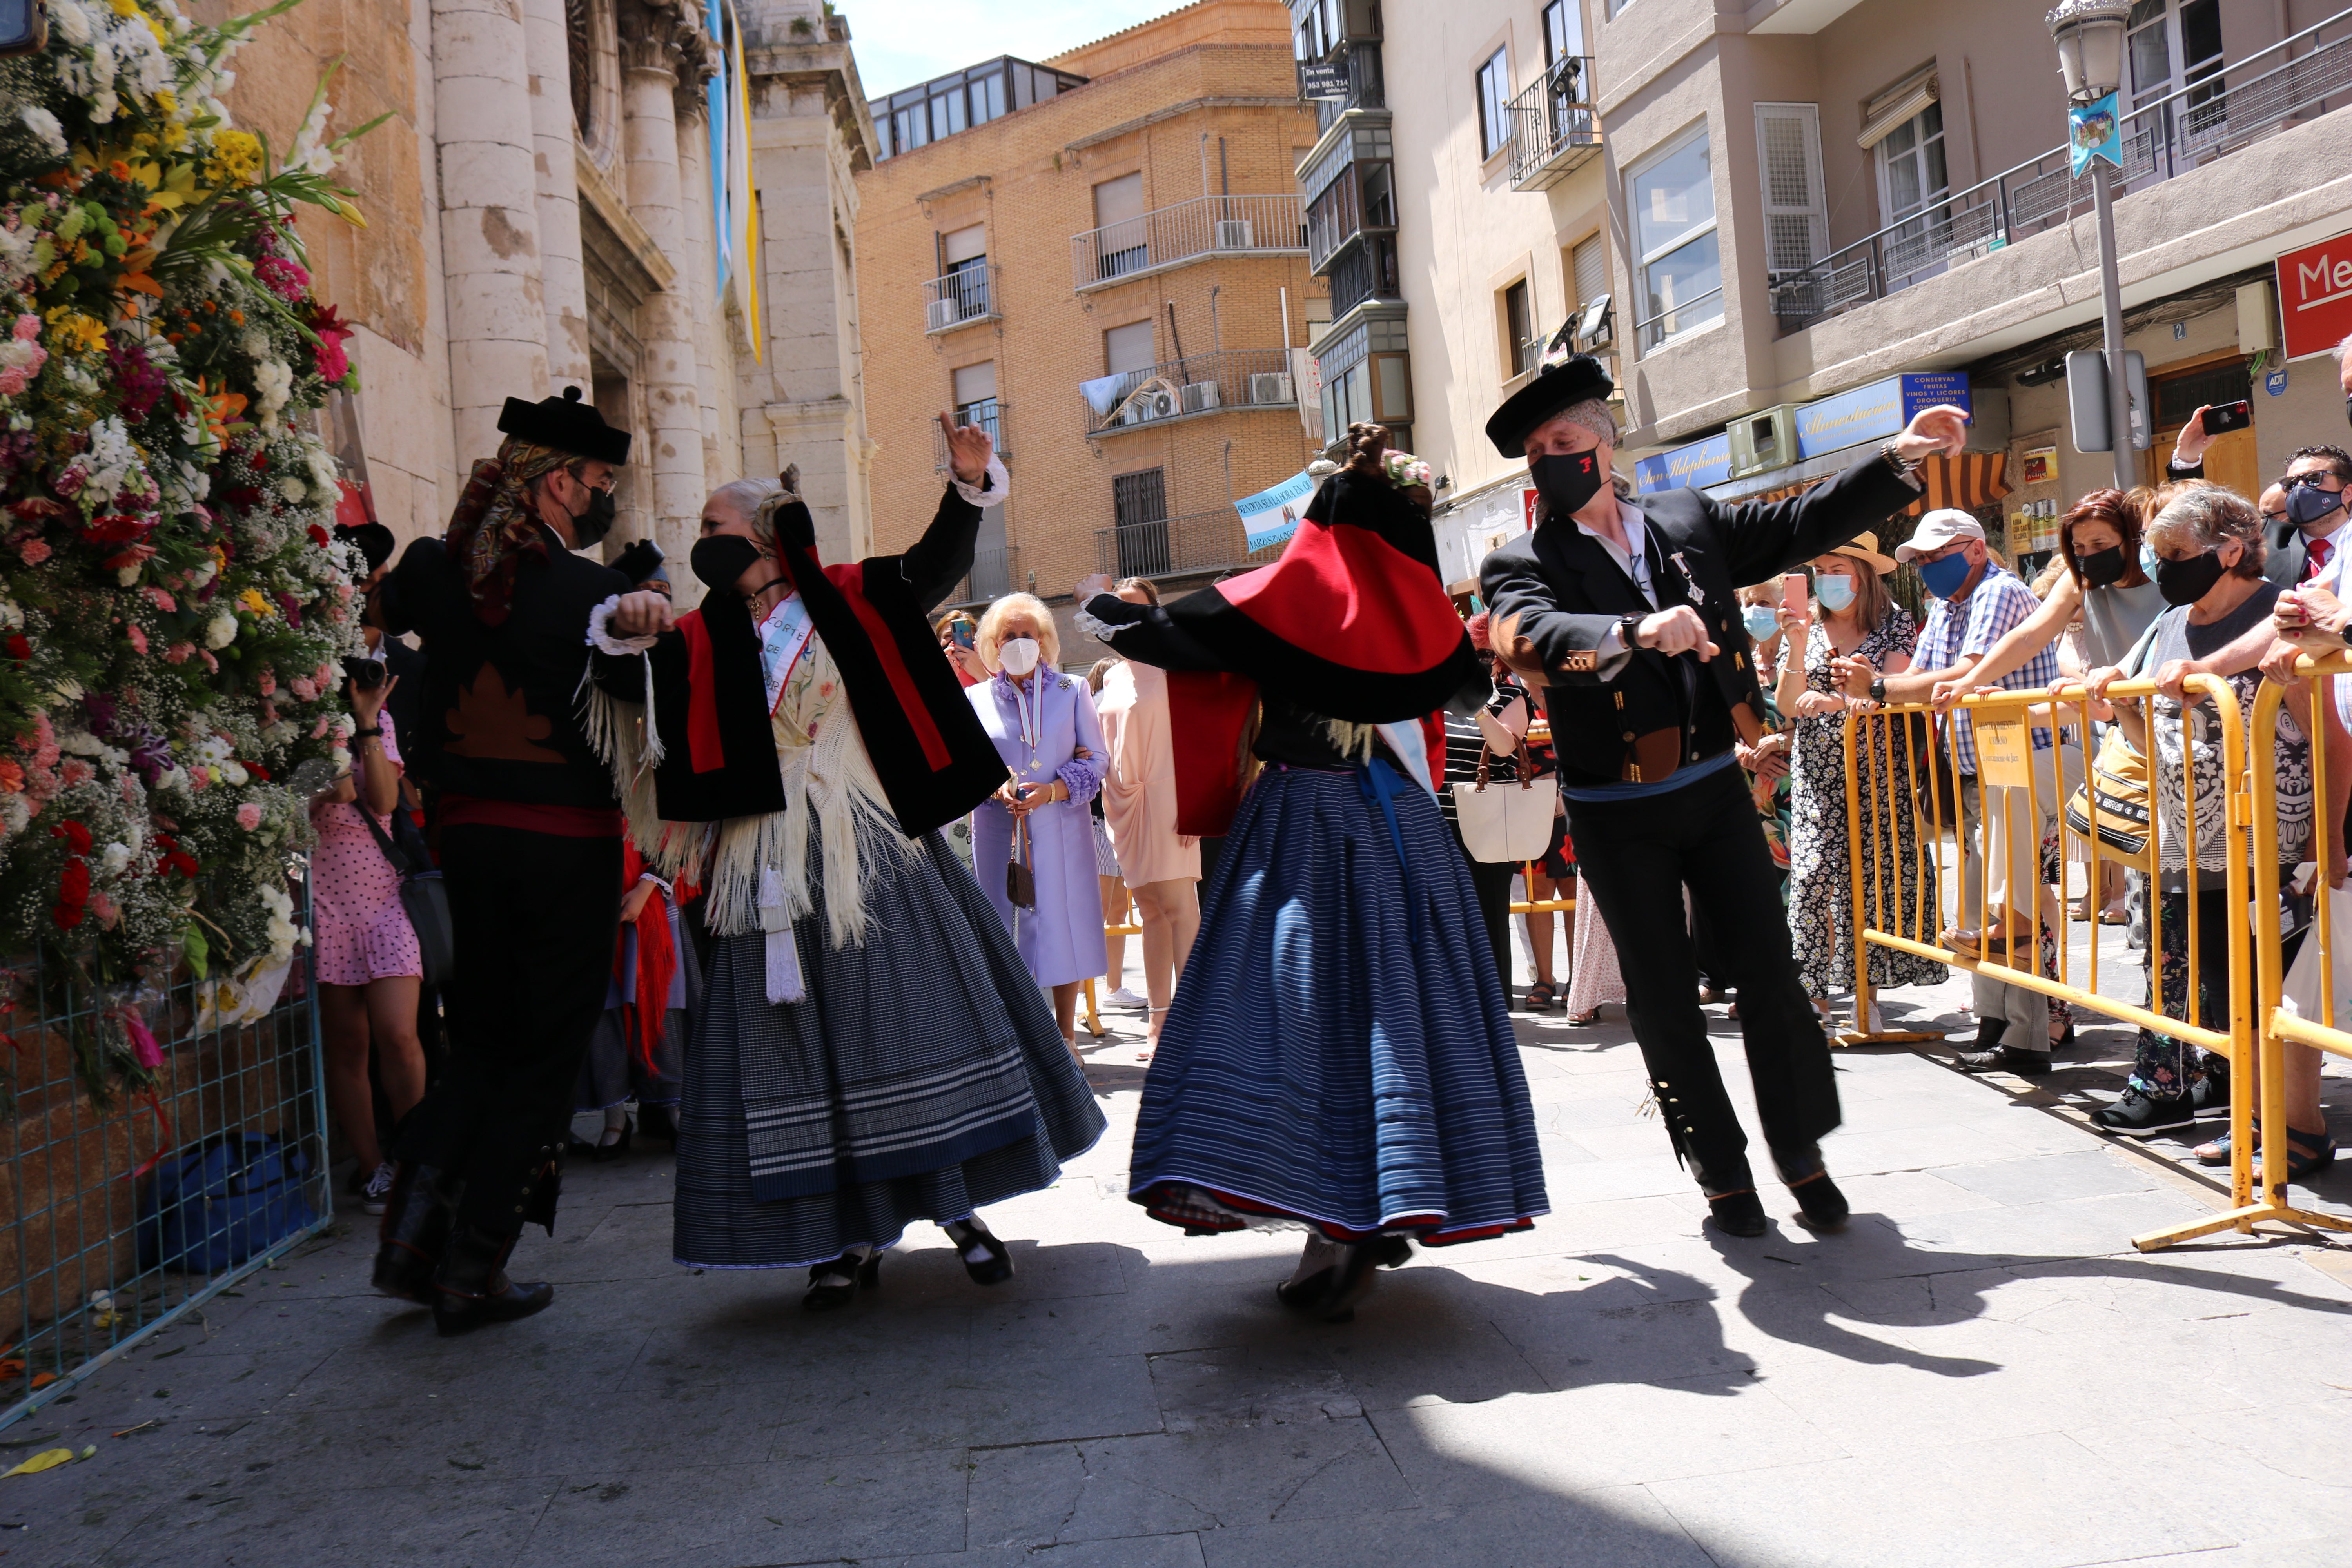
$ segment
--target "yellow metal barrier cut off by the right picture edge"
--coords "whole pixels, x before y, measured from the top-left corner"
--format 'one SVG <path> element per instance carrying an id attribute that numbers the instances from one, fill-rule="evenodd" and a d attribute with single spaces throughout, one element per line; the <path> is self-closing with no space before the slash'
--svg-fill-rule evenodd
<path id="1" fill-rule="evenodd" d="M 2326 773 L 2326 717 L 2324 703 L 2331 698 L 2328 682 L 2321 677 L 2347 677 L 2352 679 L 2352 658 L 2338 654 L 2324 661 L 2303 658 L 2296 665 L 2300 672 L 2314 677 L 2300 693 L 2307 696 L 2310 708 L 2305 712 L 2303 733 L 2312 741 L 2312 832 L 2319 839 L 2321 853 L 2312 856 L 2321 865 L 2321 875 L 2312 884 L 2317 912 L 2312 917 L 2310 931 L 2305 931 L 2303 943 L 2310 947 L 2317 943 L 2319 961 L 2319 1018 L 2298 1018 L 2296 1013 L 2279 1006 L 2286 985 L 2284 969 L 2284 933 L 2279 929 L 2279 818 L 2274 811 L 2253 809 L 2260 802 L 2272 802 L 2277 797 L 2277 748 L 2274 736 L 2279 731 L 2279 708 L 2296 696 L 2296 689 L 2279 686 L 2274 682 L 2263 682 L 2263 693 L 2253 703 L 2253 745 L 2249 750 L 2246 771 L 2246 795 L 2249 818 L 2253 825 L 2253 910 L 2258 938 L 2256 950 L 2256 1025 L 2260 1034 L 2258 1048 L 2258 1072 L 2237 1074 L 2239 1084 L 2258 1077 L 2258 1103 L 2263 1107 L 2263 1180 L 2256 1192 L 2251 1175 L 2253 1159 L 2253 1131 L 2251 1107 L 2246 1105 L 2246 1093 L 2239 1091 L 2230 1100 L 2230 1150 L 2232 1150 L 2232 1197 L 2234 1204 L 2204 1220 L 2190 1225 L 2171 1225 L 2166 1229 L 2152 1229 L 2145 1237 L 2133 1237 L 2131 1244 L 2143 1253 L 2159 1246 L 2173 1246 L 2176 1241 L 2190 1241 L 2194 1237 L 2209 1237 L 2218 1229 L 2253 1229 L 2263 1220 L 2284 1220 L 2288 1225 L 2321 1227 L 2321 1229 L 2352 1229 L 2352 1220 L 2333 1213 L 2321 1213 L 2314 1208 L 2296 1208 L 2286 1201 L 2286 1048 L 2310 1046 L 2314 1051 L 2328 1051 L 2333 1056 L 2352 1056 L 2352 1034 L 2336 1027 L 2336 973 L 2333 973 L 2333 922 L 2328 910 L 2328 886 L 2326 886 L 2326 799 L 2328 799 L 2328 773 Z M 2234 842 L 2234 839 L 2232 839 Z M 2234 884 L 2232 884 L 2234 886 Z M 2232 900 L 2232 907 L 2234 900 Z M 2232 1013 L 2237 1011 L 2237 987 L 2232 987 Z"/>

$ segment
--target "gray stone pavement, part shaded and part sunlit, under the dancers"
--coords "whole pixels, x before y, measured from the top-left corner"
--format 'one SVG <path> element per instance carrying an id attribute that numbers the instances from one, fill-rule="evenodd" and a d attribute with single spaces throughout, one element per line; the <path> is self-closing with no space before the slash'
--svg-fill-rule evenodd
<path id="1" fill-rule="evenodd" d="M 1959 999 L 1889 1011 L 1964 1027 Z M 1844 1051 L 1853 1225 L 1799 1229 L 1773 1187 L 1733 1241 L 1621 1013 L 1519 1016 L 1552 1213 L 1324 1326 L 1272 1302 L 1296 1237 L 1127 1204 L 1141 1018 L 1110 1018 L 1110 1135 L 990 1211 L 1007 1286 L 931 1227 L 826 1316 L 797 1274 L 677 1269 L 673 1166 L 640 1152 L 574 1168 L 522 1244 L 550 1312 L 440 1340 L 367 1293 L 353 1215 L 0 1434 L 96 1443 L 0 1481 L 0 1568 L 2352 1563 L 2352 1246 L 2136 1253 L 2218 1199 L 2079 1121 L 2119 1027 L 2042 1084 Z"/>

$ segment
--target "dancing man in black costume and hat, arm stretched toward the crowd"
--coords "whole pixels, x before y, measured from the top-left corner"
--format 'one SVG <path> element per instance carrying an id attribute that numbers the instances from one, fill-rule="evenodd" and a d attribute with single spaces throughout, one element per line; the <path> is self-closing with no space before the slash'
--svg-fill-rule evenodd
<path id="1" fill-rule="evenodd" d="M 1797 980 L 1771 851 L 1733 762 L 1733 741 L 1755 743 L 1764 712 L 1736 592 L 1917 501 L 1912 473 L 1933 451 L 1959 451 L 1966 414 L 1926 409 L 1790 501 L 1719 505 L 1693 489 L 1628 501 L 1611 484 L 1609 374 L 1564 343 L 1545 357 L 1486 421 L 1503 456 L 1529 458 L 1543 501 L 1536 529 L 1479 571 L 1494 649 L 1543 691 L 1578 865 L 1616 940 L 1668 1138 L 1712 1222 L 1762 1237 L 1764 1204 L 1698 1009 L 1684 889 L 1715 936 L 1719 978 L 1738 987 L 1780 1180 L 1811 1225 L 1835 1229 L 1846 1199 L 1820 1161 L 1839 1121 L 1830 1044 Z"/>

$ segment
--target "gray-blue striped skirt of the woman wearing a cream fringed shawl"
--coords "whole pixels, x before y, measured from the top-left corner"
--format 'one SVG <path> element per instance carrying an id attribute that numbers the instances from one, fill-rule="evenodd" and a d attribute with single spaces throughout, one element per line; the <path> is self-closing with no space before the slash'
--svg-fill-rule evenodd
<path id="1" fill-rule="evenodd" d="M 800 940 L 802 1001 L 767 1001 L 760 936 L 710 950 L 680 1110 L 675 1255 L 781 1269 L 889 1246 L 1049 1187 L 1103 1112 L 946 842 L 866 884 L 863 945 L 826 936 L 823 863 Z"/>

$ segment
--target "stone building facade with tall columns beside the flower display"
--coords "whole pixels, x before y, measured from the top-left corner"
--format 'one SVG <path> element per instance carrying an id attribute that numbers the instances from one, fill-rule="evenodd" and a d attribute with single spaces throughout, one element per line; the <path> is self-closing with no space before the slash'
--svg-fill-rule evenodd
<path id="1" fill-rule="evenodd" d="M 823 0 L 736 7 L 760 195 L 757 320 L 717 282 L 694 0 L 310 0 L 240 56 L 230 108 L 285 146 L 310 87 L 365 230 L 303 216 L 322 292 L 358 324 L 362 393 L 336 444 L 376 517 L 437 534 L 506 397 L 579 386 L 635 435 L 607 550 L 656 538 L 684 571 L 710 487 L 802 470 L 833 559 L 870 541 L 856 172 L 873 122 Z"/>

